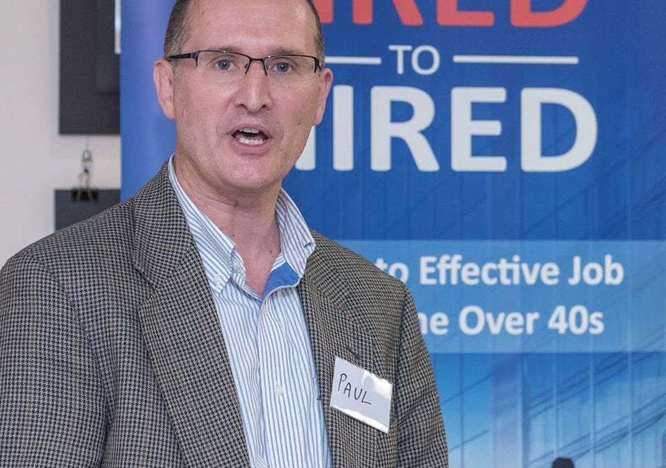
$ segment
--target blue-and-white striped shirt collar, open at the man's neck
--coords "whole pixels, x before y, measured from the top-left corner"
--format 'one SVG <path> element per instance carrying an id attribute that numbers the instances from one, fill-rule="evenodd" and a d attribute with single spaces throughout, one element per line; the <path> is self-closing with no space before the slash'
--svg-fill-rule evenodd
<path id="1" fill-rule="evenodd" d="M 236 244 L 194 205 L 182 189 L 173 168 L 173 155 L 169 158 L 169 181 L 185 214 L 210 285 L 212 288 L 223 288 L 232 275 L 232 261 L 237 256 Z M 275 219 L 280 230 L 282 256 L 300 280 L 316 244 L 296 203 L 282 188 L 275 205 Z"/>

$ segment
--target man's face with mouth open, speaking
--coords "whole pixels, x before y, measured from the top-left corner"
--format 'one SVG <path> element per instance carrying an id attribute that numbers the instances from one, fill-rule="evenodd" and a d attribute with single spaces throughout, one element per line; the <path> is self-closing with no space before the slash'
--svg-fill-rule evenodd
<path id="1" fill-rule="evenodd" d="M 316 55 L 315 23 L 305 0 L 194 0 L 181 53 L 217 49 L 256 58 Z M 158 60 L 155 83 L 164 114 L 176 120 L 176 169 L 203 196 L 276 191 L 321 121 L 332 82 L 328 69 L 297 87 L 275 85 L 260 62 L 234 83 L 203 79 L 194 60 Z M 241 129 L 261 130 L 248 144 Z M 254 141 L 256 143 L 256 141 Z"/>

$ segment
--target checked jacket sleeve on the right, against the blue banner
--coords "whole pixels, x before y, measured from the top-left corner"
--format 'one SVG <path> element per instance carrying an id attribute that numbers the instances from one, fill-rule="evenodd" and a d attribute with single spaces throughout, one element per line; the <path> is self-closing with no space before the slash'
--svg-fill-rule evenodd
<path id="1" fill-rule="evenodd" d="M 395 385 L 398 466 L 447 468 L 449 456 L 432 363 L 418 327 L 416 306 L 407 288 L 404 288 L 400 330 Z"/>

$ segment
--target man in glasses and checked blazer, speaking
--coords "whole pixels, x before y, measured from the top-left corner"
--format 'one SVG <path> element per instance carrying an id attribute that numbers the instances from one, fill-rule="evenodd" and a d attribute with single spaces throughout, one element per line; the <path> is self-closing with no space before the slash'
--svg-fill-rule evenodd
<path id="1" fill-rule="evenodd" d="M 280 188 L 322 59 L 307 0 L 176 2 L 154 73 L 175 155 L 1 272 L 1 466 L 447 466 L 409 293 Z M 386 432 L 332 406 L 341 359 Z"/>

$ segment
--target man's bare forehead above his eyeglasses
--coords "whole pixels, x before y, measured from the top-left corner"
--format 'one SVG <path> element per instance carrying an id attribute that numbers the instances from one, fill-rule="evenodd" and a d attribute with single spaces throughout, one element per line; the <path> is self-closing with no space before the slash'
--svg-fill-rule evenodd
<path id="1" fill-rule="evenodd" d="M 315 52 L 315 22 L 306 0 L 194 0 L 187 50 L 232 47 L 268 55 Z"/>

